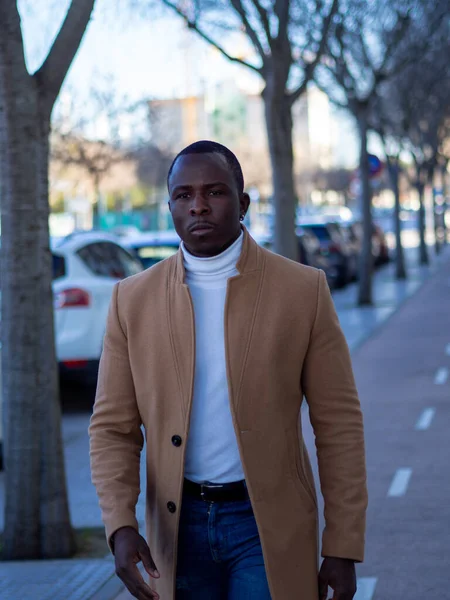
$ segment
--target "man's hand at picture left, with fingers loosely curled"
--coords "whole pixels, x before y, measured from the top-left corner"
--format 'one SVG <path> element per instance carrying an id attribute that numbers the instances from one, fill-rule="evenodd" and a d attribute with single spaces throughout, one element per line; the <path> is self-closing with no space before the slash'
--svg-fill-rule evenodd
<path id="1" fill-rule="evenodd" d="M 137 568 L 142 561 L 150 577 L 159 577 L 147 542 L 133 527 L 122 527 L 114 534 L 114 556 L 116 575 L 132 596 L 138 600 L 159 600 L 159 595 L 145 583 Z"/>

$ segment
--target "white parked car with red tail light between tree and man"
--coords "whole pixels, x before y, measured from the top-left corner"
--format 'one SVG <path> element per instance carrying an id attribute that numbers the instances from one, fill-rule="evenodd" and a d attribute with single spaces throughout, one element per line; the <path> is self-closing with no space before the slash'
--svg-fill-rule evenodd
<path id="1" fill-rule="evenodd" d="M 56 354 L 61 377 L 94 382 L 117 281 L 143 270 L 116 236 L 72 234 L 52 245 Z"/>

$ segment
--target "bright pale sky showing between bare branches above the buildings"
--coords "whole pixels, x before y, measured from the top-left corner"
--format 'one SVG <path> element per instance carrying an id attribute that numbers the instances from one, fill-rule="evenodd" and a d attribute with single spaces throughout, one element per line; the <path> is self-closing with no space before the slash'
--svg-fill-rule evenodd
<path id="1" fill-rule="evenodd" d="M 18 0 L 25 56 L 30 72 L 42 64 L 66 15 L 70 0 Z M 171 13 L 144 17 L 130 0 L 97 0 L 91 22 L 66 78 L 60 101 L 75 96 L 80 107 L 95 87 L 113 85 L 127 101 L 182 97 L 233 79 L 258 93 L 261 81 L 245 67 L 231 64 L 216 50 L 186 30 Z M 245 50 L 239 38 L 227 40 L 233 52 Z M 108 83 L 107 83 L 108 82 Z M 350 148 L 351 120 L 342 121 L 343 147 Z M 354 163 L 354 149 L 349 160 Z"/>

